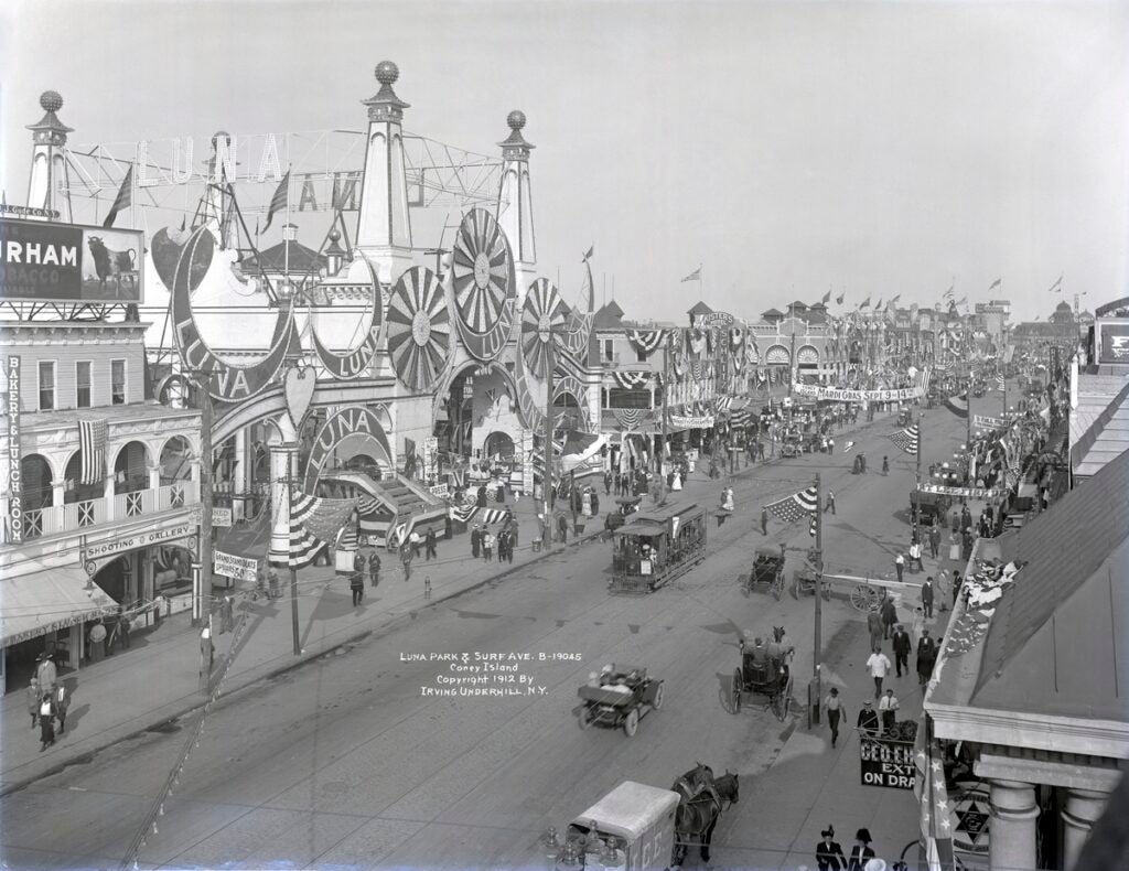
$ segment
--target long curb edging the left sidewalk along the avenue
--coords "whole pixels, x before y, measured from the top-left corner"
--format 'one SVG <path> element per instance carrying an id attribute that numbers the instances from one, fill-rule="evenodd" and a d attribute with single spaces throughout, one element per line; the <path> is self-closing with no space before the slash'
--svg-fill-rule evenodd
<path id="1" fill-rule="evenodd" d="M 553 556 L 557 552 L 563 552 L 568 548 L 578 548 L 581 545 L 584 545 L 586 542 L 589 542 L 590 540 L 597 538 L 598 535 L 599 535 L 599 532 L 586 533 L 586 534 L 580 535 L 579 538 L 572 539 L 572 541 L 570 541 L 568 545 L 566 545 L 560 550 L 542 550 L 539 556 L 533 557 L 532 559 L 530 559 L 526 563 L 522 563 L 520 565 L 507 566 L 507 568 L 502 569 L 497 575 L 492 575 L 490 577 L 485 577 L 485 578 L 483 578 L 481 581 L 474 582 L 470 586 L 465 586 L 465 587 L 463 587 L 461 590 L 453 590 L 449 593 L 446 593 L 445 595 L 437 596 L 437 598 L 435 598 L 435 599 L 426 602 L 425 604 L 422 604 L 422 606 L 420 606 L 418 608 L 413 608 L 413 609 L 411 609 L 409 611 L 405 611 L 402 615 L 397 615 L 397 616 L 391 618 L 390 620 L 387 620 L 385 622 L 382 622 L 379 626 L 374 626 L 374 627 L 369 627 L 367 629 L 364 629 L 361 632 L 357 632 L 353 635 L 350 635 L 348 638 L 343 638 L 340 642 L 335 642 L 331 646 L 325 647 L 324 650 L 310 651 L 309 653 L 305 653 L 304 652 L 300 655 L 295 656 L 292 660 L 289 660 L 289 661 L 287 661 L 287 662 L 285 662 L 281 665 L 278 665 L 275 668 L 269 669 L 269 670 L 266 670 L 265 672 L 263 672 L 261 674 L 251 674 L 244 682 L 234 685 L 230 689 L 225 690 L 222 693 L 222 695 L 217 699 L 216 704 L 217 704 L 217 706 L 226 705 L 227 700 L 231 696 L 236 696 L 236 695 L 238 695 L 240 693 L 244 693 L 245 690 L 252 689 L 252 688 L 256 687 L 259 683 L 262 683 L 263 681 L 271 680 L 272 678 L 277 678 L 278 676 L 285 674 L 285 673 L 287 673 L 289 671 L 295 671 L 296 669 L 299 669 L 299 668 L 301 668 L 304 665 L 307 665 L 310 662 L 313 662 L 314 660 L 320 659 L 321 656 L 325 656 L 326 654 L 332 654 L 332 653 L 341 650 L 342 647 L 351 646 L 351 645 L 357 644 L 357 643 L 359 643 L 359 642 L 361 642 L 365 638 L 368 638 L 370 636 L 378 636 L 380 634 L 384 634 L 384 633 L 388 632 L 390 629 L 399 628 L 400 624 L 402 624 L 402 622 L 411 622 L 419 612 L 421 612 L 421 611 L 423 611 L 423 610 L 426 610 L 428 608 L 435 608 L 437 604 L 441 604 L 443 602 L 448 602 L 452 599 L 456 599 L 456 598 L 458 598 L 461 595 L 465 595 L 466 593 L 473 592 L 475 590 L 480 590 L 481 587 L 485 586 L 487 584 L 491 584 L 491 583 L 495 583 L 497 581 L 501 581 L 501 580 L 506 578 L 506 577 L 508 577 L 509 575 L 514 574 L 515 572 L 518 572 L 522 568 L 525 568 L 526 566 L 531 566 L 534 563 L 539 563 L 542 559 L 546 559 L 548 557 L 551 557 L 551 556 Z M 254 669 L 252 669 L 251 671 L 254 671 Z M 250 674 L 250 672 L 245 672 L 245 674 Z M 114 738 L 114 739 L 112 739 L 112 740 L 110 740 L 110 741 L 107 741 L 105 743 L 98 744 L 96 747 L 90 747 L 88 749 L 85 749 L 81 754 L 78 754 L 78 755 L 76 755 L 73 757 L 70 757 L 68 759 L 60 759 L 59 761 L 53 763 L 50 767 L 47 767 L 43 772 L 38 772 L 38 773 L 34 774 L 34 775 L 29 774 L 28 776 L 26 776 L 26 777 L 24 777 L 21 779 L 11 781 L 11 782 L 5 783 L 2 786 L 0 786 L 0 798 L 5 798 L 5 796 L 10 795 L 12 793 L 20 792 L 21 790 L 26 790 L 28 786 L 30 786 L 32 784 L 36 783 L 37 781 L 42 781 L 42 779 L 44 779 L 46 777 L 53 777 L 54 775 L 62 773 L 64 769 L 69 768 L 72 765 L 81 765 L 86 760 L 93 759 L 96 754 L 99 754 L 99 752 L 102 752 L 104 750 L 107 750 L 111 747 L 115 747 L 116 744 L 120 744 L 123 741 L 129 741 L 129 740 L 139 738 L 140 735 L 143 735 L 147 732 L 151 732 L 151 731 L 156 730 L 158 726 L 161 726 L 161 725 L 164 725 L 166 723 L 173 723 L 173 722 L 175 722 L 177 720 L 183 720 L 185 717 L 192 716 L 194 713 L 196 713 L 198 711 L 202 709 L 203 706 L 204 706 L 204 704 L 207 704 L 207 703 L 202 702 L 202 700 L 194 700 L 191 704 L 185 705 L 184 707 L 180 708 L 178 711 L 176 711 L 176 712 L 174 712 L 172 714 L 161 714 L 158 717 L 154 717 L 154 718 L 151 718 L 151 720 L 142 723 L 141 725 L 139 725 L 137 729 L 132 730 L 128 734 L 121 735 L 120 738 Z"/>

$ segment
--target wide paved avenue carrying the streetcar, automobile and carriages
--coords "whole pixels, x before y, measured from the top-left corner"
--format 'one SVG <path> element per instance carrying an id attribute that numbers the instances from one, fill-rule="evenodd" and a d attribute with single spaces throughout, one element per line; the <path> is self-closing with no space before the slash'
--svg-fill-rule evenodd
<path id="1" fill-rule="evenodd" d="M 948 458 L 964 426 L 945 410 L 926 412 L 924 465 Z M 825 729 L 807 731 L 812 599 L 745 598 L 736 583 L 764 540 L 760 506 L 803 489 L 816 471 L 837 497 L 838 513 L 824 515 L 828 561 L 893 576 L 895 549 L 909 543 L 914 481 L 912 459 L 889 439 L 895 428 L 879 416 L 864 430 L 835 434 L 831 456 L 741 471 L 736 516 L 720 528 L 711 520 L 707 560 L 653 595 L 609 596 L 610 546 L 585 543 L 226 697 L 158 830 L 149 833 L 142 864 L 525 865 L 541 861 L 548 826 L 562 829 L 620 781 L 666 786 L 697 760 L 741 775 L 741 802 L 715 835 L 719 866 L 811 865 L 808 851 L 828 822 L 844 843 L 868 825 L 879 855 L 896 853 L 914 837 L 912 793 L 858 786 L 857 744 L 831 750 Z M 849 441 L 857 445 L 843 453 Z M 850 473 L 859 450 L 869 461 L 866 476 Z M 878 472 L 884 454 L 889 477 Z M 699 476 L 684 496 L 712 506 L 723 484 Z M 769 533 L 797 548 L 811 543 L 806 522 L 773 520 Z M 788 561 L 790 578 L 802 557 L 793 552 Z M 926 560 L 927 569 L 936 565 Z M 908 618 L 916 603 L 903 601 L 901 613 Z M 283 609 L 273 619 L 288 615 Z M 737 639 L 768 636 L 774 625 L 787 626 L 797 645 L 797 714 L 780 723 L 754 704 L 734 715 L 727 696 Z M 842 598 L 824 604 L 824 691 L 829 683 L 843 688 L 850 722 L 872 687 L 863 669 L 865 635 L 861 615 Z M 450 663 L 427 659 L 446 653 L 470 654 L 472 662 L 475 653 L 530 654 L 516 672 L 528 680 L 517 685 L 525 694 L 423 695 L 421 688 L 454 674 Z M 406 661 L 413 654 L 426 659 Z M 634 738 L 578 726 L 576 689 L 607 662 L 644 665 L 666 681 L 662 709 L 642 720 Z M 917 681 L 895 687 L 902 716 L 916 716 Z M 185 720 L 119 742 L 7 795 L 0 804 L 7 862 L 115 865 L 191 725 Z M 697 862 L 691 853 L 688 863 Z"/>

